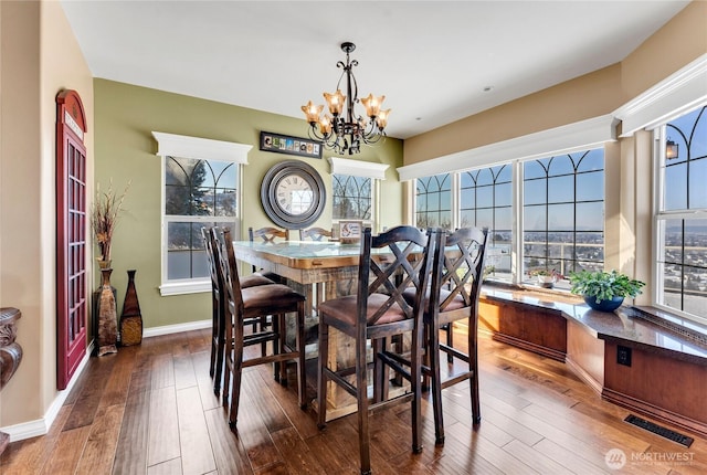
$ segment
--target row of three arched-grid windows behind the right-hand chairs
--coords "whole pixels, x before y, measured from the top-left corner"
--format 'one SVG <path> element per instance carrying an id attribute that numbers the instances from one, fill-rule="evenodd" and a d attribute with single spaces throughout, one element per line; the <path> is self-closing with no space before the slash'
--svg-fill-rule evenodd
<path id="1" fill-rule="evenodd" d="M 523 180 L 516 183 L 516 177 Z M 603 148 L 418 178 L 415 218 L 419 228 L 488 228 L 486 272 L 497 279 L 527 282 L 540 270 L 601 270 Z M 520 272 L 514 276 L 514 270 Z M 558 286 L 569 289 L 567 281 Z"/>

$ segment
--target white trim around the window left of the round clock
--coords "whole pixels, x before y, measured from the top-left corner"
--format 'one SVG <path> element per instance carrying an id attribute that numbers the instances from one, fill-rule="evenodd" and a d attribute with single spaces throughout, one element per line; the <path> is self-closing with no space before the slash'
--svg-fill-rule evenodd
<path id="1" fill-rule="evenodd" d="M 167 157 L 192 158 L 198 160 L 219 160 L 232 161 L 234 163 L 247 165 L 247 152 L 253 148 L 252 145 L 236 144 L 232 141 L 213 140 L 200 137 L 190 137 L 184 135 L 166 134 L 152 131 L 152 137 L 157 140 L 157 156 L 161 158 L 161 202 L 160 202 L 160 247 L 161 247 L 161 285 L 159 286 L 160 295 L 182 295 L 194 294 L 201 292 L 211 292 L 210 278 L 193 278 L 169 281 L 167 278 L 167 222 L 165 215 L 165 162 Z M 239 184 L 242 183 L 241 170 L 239 170 Z M 240 219 L 242 203 L 242 187 L 239 186 L 239 215 L 234 220 Z M 210 217 L 209 221 L 218 220 L 218 217 Z"/>

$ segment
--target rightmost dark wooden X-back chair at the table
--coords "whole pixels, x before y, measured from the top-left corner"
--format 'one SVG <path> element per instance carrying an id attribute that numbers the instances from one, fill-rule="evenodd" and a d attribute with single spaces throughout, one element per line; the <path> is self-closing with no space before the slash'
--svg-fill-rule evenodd
<path id="1" fill-rule="evenodd" d="M 469 381 L 473 423 L 481 422 L 478 395 L 478 297 L 484 275 L 487 229 L 463 228 L 443 234 L 434 253 L 429 305 L 425 305 L 424 325 L 434 408 L 434 434 L 437 445 L 444 443 L 442 390 L 461 381 Z M 408 294 L 411 299 L 411 293 Z M 454 321 L 466 320 L 467 352 L 453 345 Z M 446 342 L 440 342 L 440 330 L 446 331 Z M 447 368 L 442 378 L 440 351 L 447 355 Z M 454 360 L 466 366 L 455 370 Z"/>

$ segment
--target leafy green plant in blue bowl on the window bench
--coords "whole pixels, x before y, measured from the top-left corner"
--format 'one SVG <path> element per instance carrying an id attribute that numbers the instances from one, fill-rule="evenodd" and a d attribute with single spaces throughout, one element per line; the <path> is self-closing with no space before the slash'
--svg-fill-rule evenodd
<path id="1" fill-rule="evenodd" d="M 616 271 L 573 272 L 570 274 L 572 294 L 581 295 L 591 308 L 613 312 L 621 306 L 624 297 L 641 294 L 644 282 L 630 278 Z"/>

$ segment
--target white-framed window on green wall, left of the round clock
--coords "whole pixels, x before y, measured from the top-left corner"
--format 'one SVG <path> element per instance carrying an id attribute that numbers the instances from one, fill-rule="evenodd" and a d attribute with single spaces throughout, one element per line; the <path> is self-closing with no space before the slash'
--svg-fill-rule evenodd
<path id="1" fill-rule="evenodd" d="M 251 146 L 152 134 L 162 158 L 161 295 L 209 291 L 201 229 L 240 235 L 240 167 Z"/>

